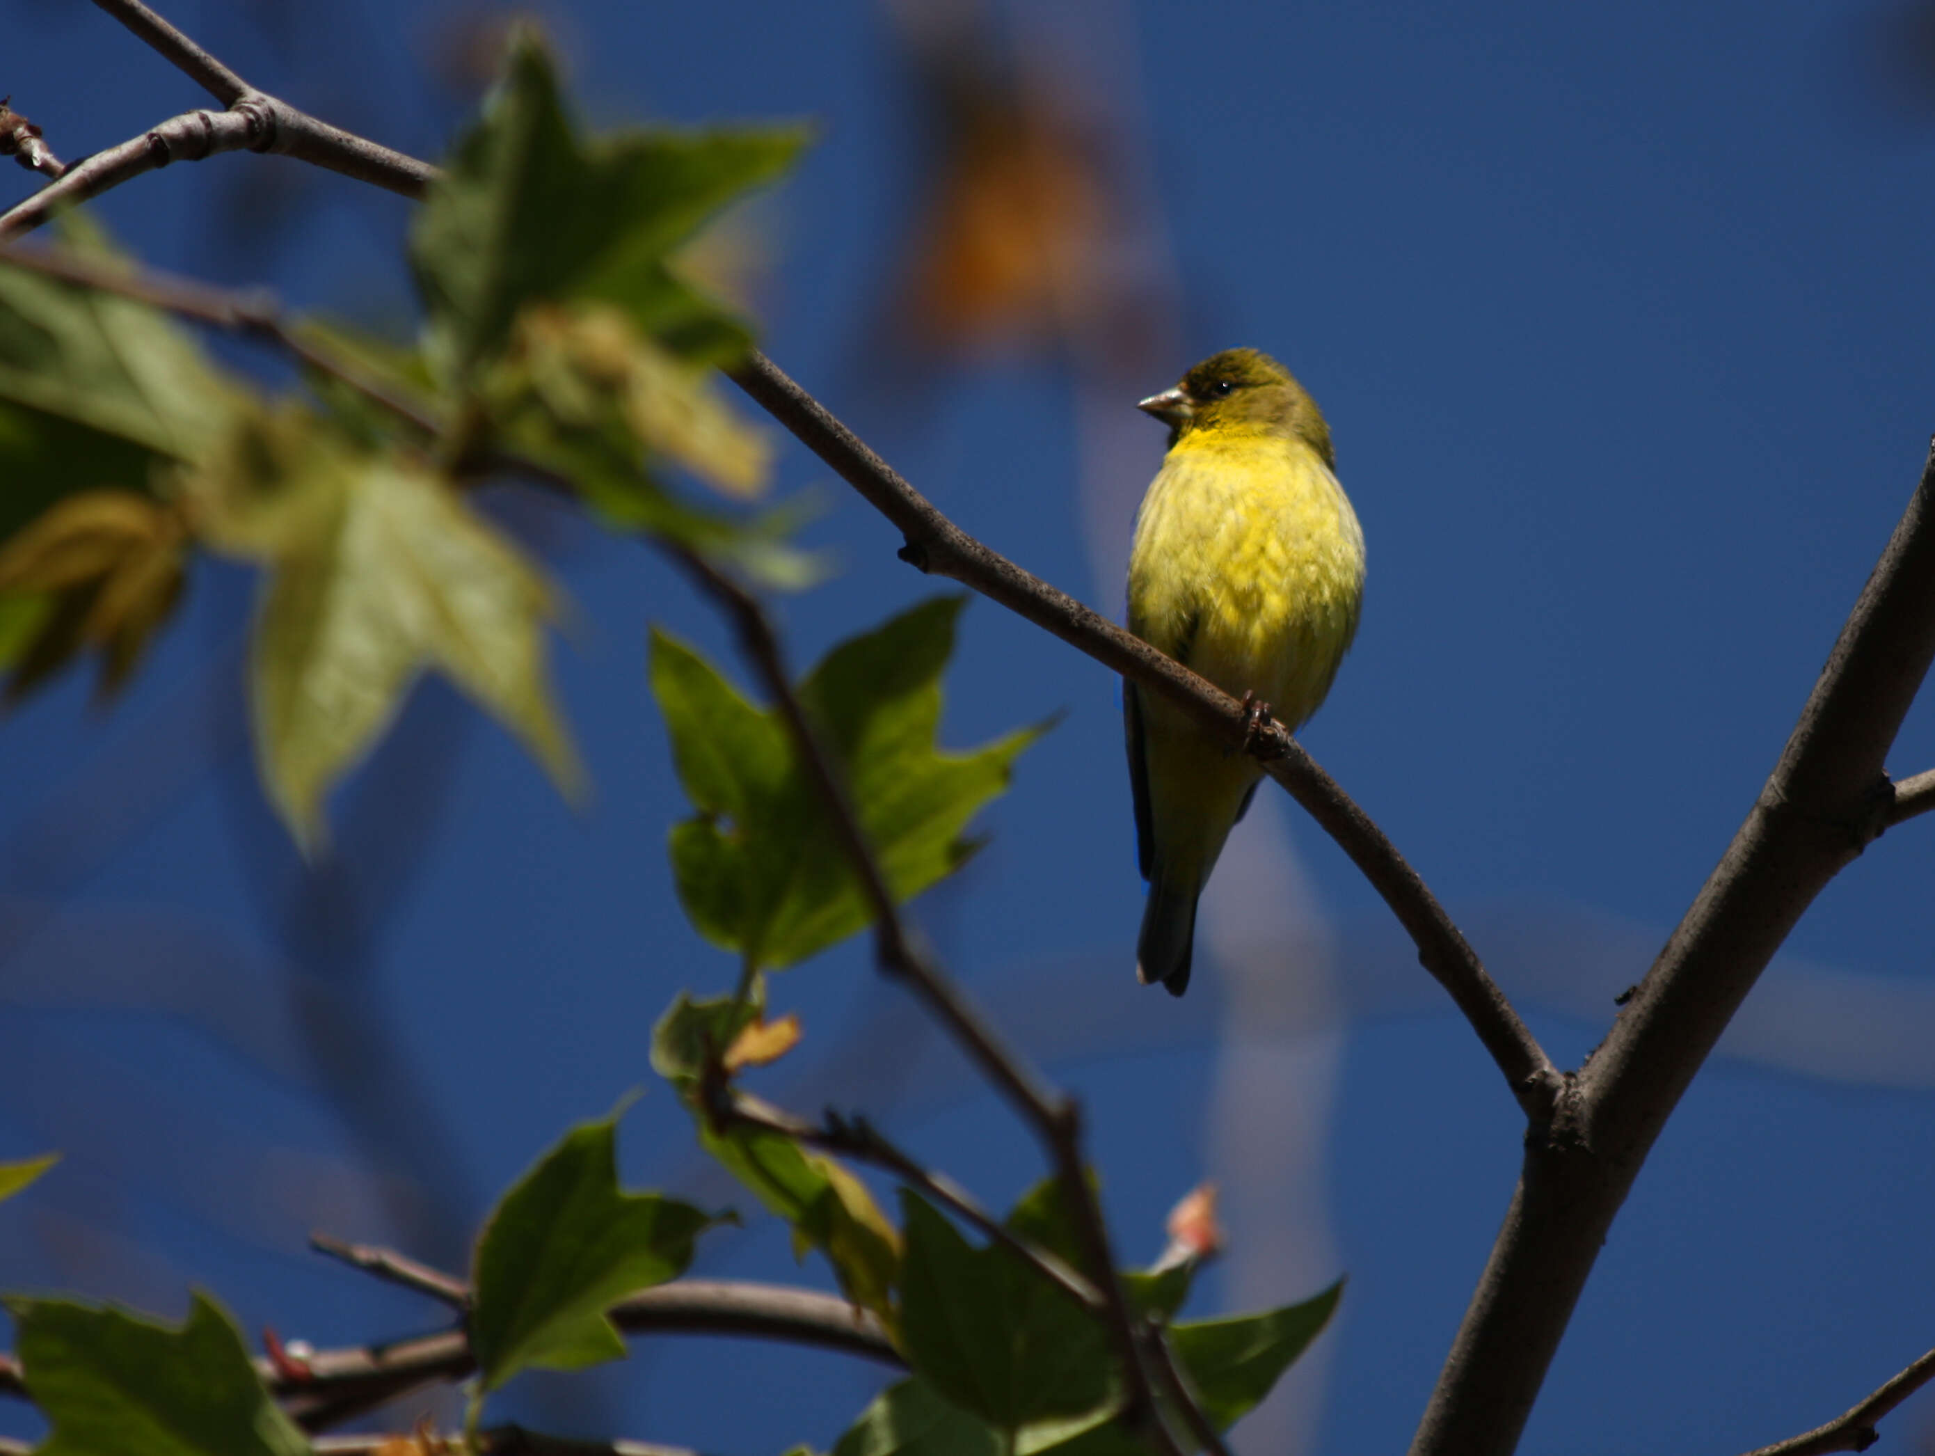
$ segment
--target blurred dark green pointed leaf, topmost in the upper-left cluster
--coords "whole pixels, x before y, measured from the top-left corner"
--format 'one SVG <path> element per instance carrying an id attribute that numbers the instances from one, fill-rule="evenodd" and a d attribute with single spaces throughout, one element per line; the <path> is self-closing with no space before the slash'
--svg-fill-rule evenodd
<path id="1" fill-rule="evenodd" d="M 580 141 L 530 31 L 410 234 L 430 356 L 468 379 L 534 300 L 602 298 L 658 333 L 689 290 L 666 254 L 799 153 L 797 128 L 629 132 Z"/>

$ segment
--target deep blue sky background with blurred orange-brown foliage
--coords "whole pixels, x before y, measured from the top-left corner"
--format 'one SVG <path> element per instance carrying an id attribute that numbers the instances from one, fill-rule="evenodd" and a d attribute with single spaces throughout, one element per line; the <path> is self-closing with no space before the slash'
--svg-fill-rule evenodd
<path id="1" fill-rule="evenodd" d="M 432 157 L 511 19 L 420 0 L 168 14 L 257 85 Z M 1596 1042 L 1751 804 L 1935 428 L 1920 8 L 526 14 L 592 124 L 817 122 L 710 265 L 942 509 L 1097 606 L 1118 604 L 1161 451 L 1132 401 L 1238 343 L 1296 370 L 1372 561 L 1304 742 L 1554 1053 Z M 87 6 L 0 0 L 0 91 L 64 159 L 205 101 Z M 0 201 L 31 186 L 8 168 Z M 223 157 L 95 211 L 157 265 L 412 327 L 391 196 Z M 822 501 L 807 538 L 840 563 L 786 604 L 797 660 L 931 591 L 803 451 L 782 484 Z M 526 500 L 499 513 L 573 600 L 557 670 L 584 811 L 430 683 L 306 867 L 250 763 L 248 579 L 215 561 L 112 711 L 70 682 L 0 724 L 0 1158 L 64 1152 L 0 1210 L 0 1286 L 170 1317 L 205 1286 L 315 1344 L 428 1328 L 439 1311 L 306 1253 L 308 1229 L 461 1266 L 567 1123 L 652 1082 L 675 989 L 729 986 L 671 896 L 685 804 L 642 666 L 646 622 L 720 656 L 724 633 L 639 548 Z M 977 602 L 948 693 L 952 743 L 1068 716 L 923 924 L 1086 1096 L 1124 1257 L 1153 1255 L 1169 1204 L 1213 1175 L 1233 1251 L 1200 1313 L 1351 1274 L 1240 1448 L 1399 1446 L 1509 1193 L 1496 1073 L 1343 858 L 1267 796 L 1211 891 L 1207 974 L 1180 1005 L 1138 991 L 1115 683 Z M 1931 763 L 1923 707 L 1892 767 Z M 1877 842 L 1755 993 L 1614 1228 L 1529 1448 L 1759 1444 L 1935 1344 L 1931 834 Z M 776 1094 L 873 1111 L 997 1204 L 1035 1177 L 863 945 L 772 993 L 807 1024 Z M 633 1183 L 731 1197 L 662 1086 L 623 1154 Z M 710 1239 L 700 1270 L 820 1280 L 772 1220 Z M 760 1452 L 828 1444 L 878 1375 L 668 1340 L 588 1380 L 590 1404 L 532 1382 L 528 1417 Z M 1877 1450 L 1931 1427 L 1935 1406 L 1910 1406 Z"/>

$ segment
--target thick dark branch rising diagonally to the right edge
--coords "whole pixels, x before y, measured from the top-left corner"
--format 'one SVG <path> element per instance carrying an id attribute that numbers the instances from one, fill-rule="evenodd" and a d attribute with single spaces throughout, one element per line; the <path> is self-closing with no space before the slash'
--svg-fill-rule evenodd
<path id="1" fill-rule="evenodd" d="M 1935 658 L 1935 451 L 1794 734 L 1639 991 L 1527 1144 L 1414 1456 L 1509 1452 L 1620 1204 L 1815 895 L 1883 831 L 1883 757 Z"/>

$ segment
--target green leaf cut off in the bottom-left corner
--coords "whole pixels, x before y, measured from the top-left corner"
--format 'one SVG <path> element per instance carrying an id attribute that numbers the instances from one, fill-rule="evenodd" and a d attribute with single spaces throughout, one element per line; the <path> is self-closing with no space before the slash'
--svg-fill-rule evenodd
<path id="1" fill-rule="evenodd" d="M 197 1293 L 174 1330 L 118 1309 L 8 1299 L 39 1456 L 302 1456 L 310 1442 L 255 1375 L 234 1322 Z"/>

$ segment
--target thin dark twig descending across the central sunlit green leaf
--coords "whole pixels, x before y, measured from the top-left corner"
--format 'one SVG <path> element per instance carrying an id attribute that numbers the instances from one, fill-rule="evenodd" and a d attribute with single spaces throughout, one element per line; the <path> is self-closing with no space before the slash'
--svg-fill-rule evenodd
<path id="1" fill-rule="evenodd" d="M 786 720 L 793 747 L 807 769 L 815 790 L 820 796 L 834 833 L 846 852 L 853 873 L 875 914 L 875 958 L 894 980 L 904 982 L 954 1040 L 968 1051 L 989 1080 L 1000 1088 L 1014 1104 L 1016 1111 L 1035 1129 L 1049 1154 L 1049 1162 L 1062 1183 L 1068 1206 L 1074 1212 L 1076 1235 L 1084 1243 L 1089 1280 L 1101 1289 L 1109 1313 L 1105 1320 L 1111 1340 L 1116 1346 L 1116 1359 L 1128 1384 L 1126 1419 L 1130 1425 L 1147 1425 L 1161 1446 L 1171 1456 L 1180 1456 L 1175 1433 L 1163 1419 L 1155 1404 L 1155 1390 L 1144 1353 L 1136 1336 L 1138 1319 L 1128 1305 L 1128 1293 L 1116 1274 L 1115 1251 L 1109 1247 L 1109 1226 L 1103 1222 L 1101 1204 L 1089 1185 L 1087 1168 L 1082 1160 L 1082 1111 L 1074 1098 L 1055 1092 L 1043 1084 L 1041 1077 L 1016 1053 L 1008 1051 L 995 1028 L 969 1005 L 968 997 L 952 984 L 919 943 L 913 929 L 900 914 L 873 846 L 859 825 L 853 802 L 848 798 L 840 771 L 820 743 L 819 730 L 809 722 L 805 705 L 793 691 L 780 639 L 766 620 L 764 608 L 739 583 L 724 575 L 710 561 L 677 542 L 662 542 L 666 554 L 685 567 L 731 618 L 739 645 L 759 670 L 766 691 L 772 693 Z"/>

